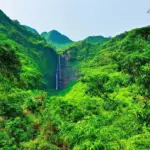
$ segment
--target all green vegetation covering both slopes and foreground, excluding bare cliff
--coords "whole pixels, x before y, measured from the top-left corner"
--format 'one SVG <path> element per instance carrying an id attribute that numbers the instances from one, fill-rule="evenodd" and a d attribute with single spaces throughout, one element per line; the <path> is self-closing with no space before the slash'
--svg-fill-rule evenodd
<path id="1" fill-rule="evenodd" d="M 55 52 L 0 12 L 0 149 L 150 149 L 149 35 L 148 26 L 74 43 L 62 53 L 79 78 L 48 93 Z"/>

